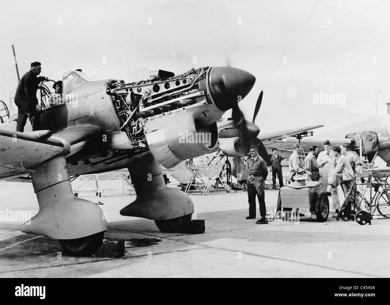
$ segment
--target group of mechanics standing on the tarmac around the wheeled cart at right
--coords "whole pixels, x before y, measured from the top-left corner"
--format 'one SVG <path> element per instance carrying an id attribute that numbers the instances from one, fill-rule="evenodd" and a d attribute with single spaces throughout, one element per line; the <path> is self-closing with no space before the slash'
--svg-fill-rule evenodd
<path id="1" fill-rule="evenodd" d="M 329 140 L 323 143 L 324 151 L 319 153 L 318 147 L 313 145 L 310 147 L 310 153 L 305 158 L 300 154 L 302 149 L 300 143 L 293 145 L 293 153 L 289 158 L 289 182 L 294 182 L 296 178 L 304 178 L 307 181 L 321 181 L 324 192 L 328 196 L 332 196 L 333 209 L 339 213 L 340 200 L 337 192 L 337 186 L 342 184 L 344 195 L 353 186 L 353 178 L 355 172 L 360 171 L 360 159 L 353 153 L 347 152 L 345 145 L 335 145 L 331 149 Z M 278 176 L 279 186 L 283 184 L 282 161 L 285 157 L 278 154 L 278 149 L 272 149 L 271 170 L 272 170 L 272 188 L 276 188 L 276 176 Z M 248 159 L 248 203 L 249 216 L 246 219 L 256 218 L 256 202 L 255 197 L 259 200 L 259 209 L 261 218 L 256 223 L 264 223 L 266 221 L 266 206 L 264 201 L 264 186 L 268 176 L 266 162 L 259 156 L 257 146 L 250 147 L 250 156 Z M 351 205 L 351 203 L 348 203 Z M 349 206 L 351 207 L 351 206 Z M 355 206 L 356 209 L 360 207 Z"/>

